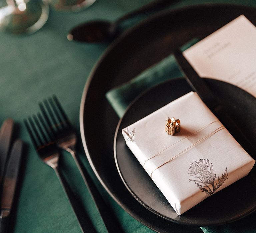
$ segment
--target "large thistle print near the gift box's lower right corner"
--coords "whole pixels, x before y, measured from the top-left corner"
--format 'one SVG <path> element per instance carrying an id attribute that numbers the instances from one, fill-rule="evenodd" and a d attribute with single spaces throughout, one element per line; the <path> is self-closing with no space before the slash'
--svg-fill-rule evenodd
<path id="1" fill-rule="evenodd" d="M 210 166 L 210 171 L 207 170 Z M 221 178 L 216 179 L 216 174 L 212 169 L 212 163 L 208 159 L 198 159 L 190 163 L 188 168 L 188 174 L 197 178 L 195 180 L 189 179 L 189 181 L 194 181 L 197 187 L 206 192 L 206 194 L 213 194 L 228 178 L 227 168 L 222 174 Z M 197 175 L 197 176 L 196 176 Z"/>

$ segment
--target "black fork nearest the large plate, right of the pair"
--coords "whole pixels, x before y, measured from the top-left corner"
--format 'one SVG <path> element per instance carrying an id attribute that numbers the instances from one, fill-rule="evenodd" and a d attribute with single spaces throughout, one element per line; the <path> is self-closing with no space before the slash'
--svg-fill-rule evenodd
<path id="1" fill-rule="evenodd" d="M 81 176 L 102 217 L 106 229 L 108 232 L 122 232 L 114 215 L 111 213 L 111 210 L 97 190 L 90 175 L 83 166 L 79 156 L 77 156 L 75 149 L 77 143 L 77 135 L 75 129 L 72 127 L 57 97 L 53 96 L 52 98 L 49 98 L 48 101 L 44 100 L 43 103 L 39 103 L 39 107 L 44 118 L 46 119 L 48 128 L 51 130 L 51 133 L 56 140 L 57 146 L 68 151 L 75 160 Z"/>

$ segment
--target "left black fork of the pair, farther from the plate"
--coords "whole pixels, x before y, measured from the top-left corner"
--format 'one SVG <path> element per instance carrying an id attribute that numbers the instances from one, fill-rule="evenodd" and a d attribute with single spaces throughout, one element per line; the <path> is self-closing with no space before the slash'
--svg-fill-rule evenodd
<path id="1" fill-rule="evenodd" d="M 24 123 L 39 157 L 44 163 L 54 169 L 57 177 L 59 178 L 69 203 L 71 204 L 71 207 L 77 217 L 82 232 L 95 232 L 95 229 L 88 216 L 83 211 L 81 204 L 74 196 L 67 181 L 60 171 L 58 163 L 60 152 L 56 145 L 56 141 L 43 120 L 42 115 L 40 113 L 38 113 L 37 116 L 33 115 L 33 119 L 28 117 L 28 120 L 25 119 Z"/>

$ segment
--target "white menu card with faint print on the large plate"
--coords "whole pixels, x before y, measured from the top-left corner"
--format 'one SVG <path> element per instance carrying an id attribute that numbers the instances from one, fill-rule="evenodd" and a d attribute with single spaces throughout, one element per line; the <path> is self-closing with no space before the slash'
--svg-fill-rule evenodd
<path id="1" fill-rule="evenodd" d="M 233 84 L 256 97 L 256 27 L 241 15 L 183 52 L 200 77 Z"/>

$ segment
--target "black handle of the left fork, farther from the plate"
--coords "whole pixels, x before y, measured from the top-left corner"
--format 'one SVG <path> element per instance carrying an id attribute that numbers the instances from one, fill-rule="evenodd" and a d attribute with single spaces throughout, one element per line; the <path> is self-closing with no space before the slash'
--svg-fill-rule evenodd
<path id="1" fill-rule="evenodd" d="M 78 220 L 79 226 L 82 230 L 82 232 L 95 232 L 95 229 L 87 215 L 87 213 L 84 211 L 84 209 L 82 208 L 82 204 L 80 203 L 80 201 L 76 198 L 76 196 L 74 195 L 74 193 L 72 192 L 69 184 L 67 183 L 65 177 L 63 176 L 62 172 L 60 171 L 59 167 L 56 166 L 53 168 L 57 177 L 59 178 L 59 181 L 66 193 L 66 196 L 69 200 L 69 203 L 76 215 L 76 218 Z"/>

